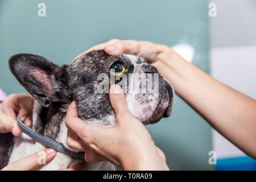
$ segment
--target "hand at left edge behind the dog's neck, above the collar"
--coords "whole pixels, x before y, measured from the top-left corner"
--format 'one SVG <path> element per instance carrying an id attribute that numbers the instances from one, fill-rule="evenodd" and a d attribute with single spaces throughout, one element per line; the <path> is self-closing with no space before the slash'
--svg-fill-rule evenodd
<path id="1" fill-rule="evenodd" d="M 0 104 L 0 133 L 13 133 L 18 136 L 21 134 L 18 123 L 16 121 L 19 114 L 22 122 L 28 127 L 32 126 L 32 107 L 34 98 L 29 94 L 10 94 Z"/>

